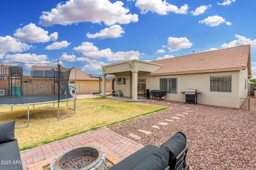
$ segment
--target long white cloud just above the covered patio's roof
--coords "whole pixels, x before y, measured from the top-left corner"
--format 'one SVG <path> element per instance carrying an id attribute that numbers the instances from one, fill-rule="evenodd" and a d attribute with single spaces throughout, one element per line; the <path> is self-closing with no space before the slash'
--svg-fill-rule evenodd
<path id="1" fill-rule="evenodd" d="M 119 51 L 117 53 L 113 53 L 111 49 L 102 49 L 99 50 L 98 47 L 94 46 L 93 43 L 83 42 L 82 45 L 78 47 L 74 47 L 74 50 L 83 53 L 83 57 L 77 58 L 78 61 L 90 62 L 93 59 L 106 58 L 108 61 L 127 61 L 132 59 L 138 59 L 140 56 L 139 51 Z"/>

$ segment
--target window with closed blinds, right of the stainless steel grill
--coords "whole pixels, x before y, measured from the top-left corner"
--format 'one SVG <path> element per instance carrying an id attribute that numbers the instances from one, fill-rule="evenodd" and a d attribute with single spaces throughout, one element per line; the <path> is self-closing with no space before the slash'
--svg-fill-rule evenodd
<path id="1" fill-rule="evenodd" d="M 232 76 L 210 76 L 210 92 L 231 92 Z"/>

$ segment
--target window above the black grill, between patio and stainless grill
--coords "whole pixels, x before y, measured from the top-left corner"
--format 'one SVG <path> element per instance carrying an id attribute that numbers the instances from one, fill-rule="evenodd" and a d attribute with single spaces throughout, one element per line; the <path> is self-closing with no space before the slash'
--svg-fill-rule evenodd
<path id="1" fill-rule="evenodd" d="M 170 94 L 177 94 L 178 78 L 160 78 L 160 90 L 168 91 Z"/>

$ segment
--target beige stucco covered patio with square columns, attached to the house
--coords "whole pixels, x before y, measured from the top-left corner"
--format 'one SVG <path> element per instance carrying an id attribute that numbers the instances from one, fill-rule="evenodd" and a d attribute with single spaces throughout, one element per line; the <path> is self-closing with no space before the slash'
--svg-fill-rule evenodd
<path id="1" fill-rule="evenodd" d="M 136 59 L 102 66 L 102 97 L 106 97 L 106 75 L 112 74 L 112 90 L 121 90 L 124 97 L 138 101 L 138 78 L 146 80 L 152 71 L 162 66 Z"/>

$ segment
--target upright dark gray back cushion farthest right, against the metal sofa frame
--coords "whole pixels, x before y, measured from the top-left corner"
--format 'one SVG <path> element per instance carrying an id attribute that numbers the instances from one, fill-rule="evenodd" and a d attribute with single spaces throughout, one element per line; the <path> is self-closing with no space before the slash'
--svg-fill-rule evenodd
<path id="1" fill-rule="evenodd" d="M 169 166 L 170 169 L 174 168 L 174 159 L 186 147 L 186 135 L 182 132 L 175 133 L 168 141 L 163 143 L 161 147 L 166 147 L 170 151 Z"/>

